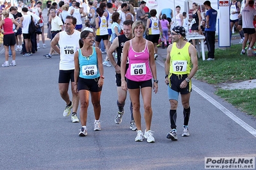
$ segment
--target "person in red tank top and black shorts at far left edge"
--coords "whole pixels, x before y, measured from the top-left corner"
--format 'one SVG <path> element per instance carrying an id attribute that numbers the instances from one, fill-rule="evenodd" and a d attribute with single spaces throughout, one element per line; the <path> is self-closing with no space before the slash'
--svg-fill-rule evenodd
<path id="1" fill-rule="evenodd" d="M 17 30 L 20 27 L 20 24 L 16 22 L 14 19 L 9 18 L 9 13 L 7 11 L 3 12 L 4 19 L 0 21 L 0 27 L 3 26 L 3 42 L 4 42 L 4 54 L 5 54 L 5 62 L 3 63 L 2 66 L 9 66 L 9 46 L 11 47 L 12 50 L 12 63 L 10 63 L 11 66 L 15 66 L 15 50 L 14 50 L 14 45 L 15 45 L 15 33 L 17 33 Z M 13 24 L 15 24 L 17 27 L 13 31 Z M 2 30 L 0 29 L 2 32 Z"/>

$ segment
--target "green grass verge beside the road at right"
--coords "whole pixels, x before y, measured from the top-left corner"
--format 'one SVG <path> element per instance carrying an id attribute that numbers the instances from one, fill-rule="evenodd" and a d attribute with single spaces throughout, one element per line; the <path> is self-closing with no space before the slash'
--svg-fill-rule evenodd
<path id="1" fill-rule="evenodd" d="M 215 85 L 256 79 L 256 58 L 240 55 L 241 49 L 242 45 L 232 45 L 226 50 L 216 49 L 214 61 L 198 59 L 198 72 L 194 77 Z M 216 95 L 241 111 L 256 116 L 256 89 L 218 89 Z"/>

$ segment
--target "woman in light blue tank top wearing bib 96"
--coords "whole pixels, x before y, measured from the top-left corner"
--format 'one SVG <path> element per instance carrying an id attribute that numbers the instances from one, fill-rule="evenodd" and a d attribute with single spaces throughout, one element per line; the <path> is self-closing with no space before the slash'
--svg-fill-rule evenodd
<path id="1" fill-rule="evenodd" d="M 90 31 L 82 31 L 80 35 L 80 48 L 74 54 L 74 89 L 80 97 L 81 130 L 78 135 L 87 135 L 87 111 L 89 95 L 94 107 L 94 131 L 101 130 L 99 121 L 101 115 L 101 89 L 104 82 L 102 54 L 99 47 L 92 47 L 94 35 Z"/>

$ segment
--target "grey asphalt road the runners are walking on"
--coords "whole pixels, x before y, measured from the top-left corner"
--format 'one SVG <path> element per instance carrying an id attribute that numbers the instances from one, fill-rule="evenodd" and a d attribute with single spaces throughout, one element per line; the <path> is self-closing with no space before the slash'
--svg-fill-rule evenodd
<path id="1" fill-rule="evenodd" d="M 155 143 L 134 141 L 136 132 L 129 129 L 129 99 L 123 122 L 114 123 L 117 93 L 113 66 L 104 66 L 102 130 L 93 131 L 94 113 L 90 104 L 88 135 L 79 137 L 80 123 L 71 123 L 70 116 L 62 116 L 65 102 L 58 92 L 60 58 L 44 58 L 42 55 L 49 52 L 49 39 L 46 45 L 46 49 L 38 49 L 33 56 L 24 57 L 17 52 L 17 66 L 0 68 L 0 169 L 204 169 L 205 157 L 255 157 L 255 118 L 214 95 L 214 86 L 194 79 L 191 136 L 181 136 L 180 102 L 178 141 L 166 138 L 170 130 L 170 105 L 161 62 L 165 56 L 157 61 L 159 91 L 152 97 L 151 130 L 155 132 Z M 0 53 L 2 62 L 3 50 Z M 143 117 L 142 128 L 145 128 Z"/>

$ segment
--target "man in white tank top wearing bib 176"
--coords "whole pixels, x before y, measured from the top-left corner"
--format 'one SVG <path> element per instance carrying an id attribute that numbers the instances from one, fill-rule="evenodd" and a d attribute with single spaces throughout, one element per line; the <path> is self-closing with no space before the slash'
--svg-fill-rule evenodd
<path id="1" fill-rule="evenodd" d="M 51 41 L 51 47 L 60 54 L 60 73 L 58 77 L 58 88 L 60 96 L 66 102 L 63 116 L 69 116 L 71 109 L 73 113 L 71 121 L 79 122 L 77 110 L 79 104 L 78 92 L 74 91 L 74 53 L 79 49 L 80 32 L 75 30 L 76 18 L 67 16 L 64 23 L 64 31 L 57 33 Z M 60 48 L 57 46 L 60 45 Z M 72 101 L 69 99 L 69 82 L 71 81 Z"/>

